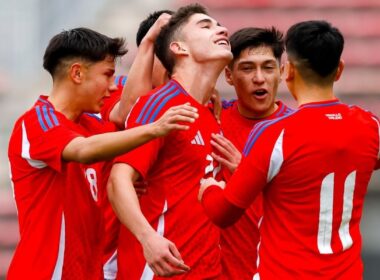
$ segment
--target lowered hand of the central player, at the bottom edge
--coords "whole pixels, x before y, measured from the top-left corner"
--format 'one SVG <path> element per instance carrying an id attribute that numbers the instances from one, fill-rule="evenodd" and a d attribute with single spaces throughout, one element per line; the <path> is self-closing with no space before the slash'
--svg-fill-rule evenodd
<path id="1" fill-rule="evenodd" d="M 190 270 L 185 265 L 181 254 L 173 242 L 159 235 L 157 232 L 149 233 L 141 245 L 144 257 L 155 275 L 170 277 L 184 274 Z"/>

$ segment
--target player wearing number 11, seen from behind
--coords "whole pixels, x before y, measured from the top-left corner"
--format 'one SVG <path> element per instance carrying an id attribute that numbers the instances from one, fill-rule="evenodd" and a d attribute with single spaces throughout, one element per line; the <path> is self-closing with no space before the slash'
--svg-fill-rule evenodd
<path id="1" fill-rule="evenodd" d="M 201 188 L 207 214 L 221 226 L 263 192 L 254 279 L 362 278 L 359 225 L 380 162 L 379 121 L 334 95 L 343 45 L 325 21 L 288 30 L 285 76 L 298 110 L 255 126 L 224 190 L 210 179 Z"/>

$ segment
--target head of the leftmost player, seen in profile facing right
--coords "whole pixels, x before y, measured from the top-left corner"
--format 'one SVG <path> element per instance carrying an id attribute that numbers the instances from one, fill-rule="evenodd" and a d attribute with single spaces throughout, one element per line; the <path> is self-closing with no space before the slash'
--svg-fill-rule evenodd
<path id="1" fill-rule="evenodd" d="M 84 112 L 99 112 L 113 85 L 115 59 L 125 53 L 124 39 L 75 28 L 50 40 L 43 66 L 54 83 L 69 87 L 65 98 L 70 98 L 70 105 Z"/>

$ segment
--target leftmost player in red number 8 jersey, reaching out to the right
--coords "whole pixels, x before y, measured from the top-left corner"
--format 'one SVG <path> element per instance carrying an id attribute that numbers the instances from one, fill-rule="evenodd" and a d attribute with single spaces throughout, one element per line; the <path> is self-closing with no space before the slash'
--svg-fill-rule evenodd
<path id="1" fill-rule="evenodd" d="M 93 113 L 126 52 L 123 39 L 86 28 L 50 40 L 44 68 L 53 88 L 17 120 L 9 142 L 21 238 L 8 279 L 102 278 L 100 161 L 194 121 L 195 109 L 183 105 L 152 125 L 109 132 L 114 125 Z"/>

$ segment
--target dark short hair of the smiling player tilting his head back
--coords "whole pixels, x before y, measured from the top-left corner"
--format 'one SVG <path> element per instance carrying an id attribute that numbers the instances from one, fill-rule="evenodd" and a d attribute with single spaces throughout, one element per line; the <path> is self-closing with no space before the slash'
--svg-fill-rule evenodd
<path id="1" fill-rule="evenodd" d="M 158 35 L 154 44 L 157 57 L 160 59 L 169 75 L 172 74 L 174 68 L 174 55 L 170 51 L 170 43 L 175 39 L 177 31 L 189 20 L 194 14 L 208 15 L 206 8 L 199 4 L 190 4 L 178 9 L 173 14 L 168 24 L 165 25 Z"/>

